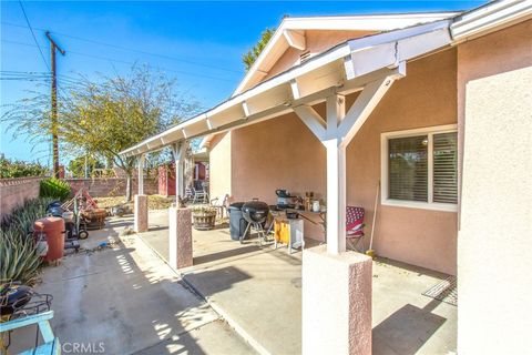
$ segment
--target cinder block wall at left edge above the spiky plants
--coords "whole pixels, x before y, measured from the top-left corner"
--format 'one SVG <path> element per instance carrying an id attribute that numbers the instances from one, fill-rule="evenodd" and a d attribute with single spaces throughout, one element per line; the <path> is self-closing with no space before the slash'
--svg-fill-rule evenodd
<path id="1" fill-rule="evenodd" d="M 0 220 L 22 205 L 24 201 L 39 196 L 39 182 L 43 178 L 18 178 L 0 180 Z"/>

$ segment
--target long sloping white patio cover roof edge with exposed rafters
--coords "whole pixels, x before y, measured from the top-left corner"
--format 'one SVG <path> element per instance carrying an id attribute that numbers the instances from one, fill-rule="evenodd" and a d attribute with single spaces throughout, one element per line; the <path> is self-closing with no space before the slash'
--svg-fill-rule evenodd
<path id="1" fill-rule="evenodd" d="M 326 93 L 359 90 L 359 78 L 367 80 L 371 73 L 390 68 L 402 70 L 400 64 L 408 60 L 531 17 L 532 0 L 497 1 L 453 19 L 345 41 L 121 154 L 156 151 L 184 139 L 216 134 L 291 112 L 291 108 L 316 102 Z M 202 142 L 207 144 L 208 138 Z"/>

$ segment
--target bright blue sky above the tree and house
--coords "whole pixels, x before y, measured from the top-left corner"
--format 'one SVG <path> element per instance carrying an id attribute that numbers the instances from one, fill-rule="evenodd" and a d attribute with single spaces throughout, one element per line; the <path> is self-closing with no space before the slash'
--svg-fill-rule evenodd
<path id="1" fill-rule="evenodd" d="M 66 50 L 58 59 L 59 74 L 93 78 L 99 72 L 124 72 L 133 62 L 149 63 L 175 77 L 182 91 L 208 108 L 232 93 L 244 75 L 242 53 L 284 16 L 467 10 L 483 2 L 23 1 L 23 6 L 47 62 L 50 48 L 44 30 Z M 1 70 L 48 71 L 18 1 L 1 2 Z M 34 89 L 35 82 L 2 80 L 1 103 L 14 102 Z M 32 151 L 23 138 L 12 140 L 1 129 L 0 151 L 8 158 L 50 163 L 49 144 Z"/>

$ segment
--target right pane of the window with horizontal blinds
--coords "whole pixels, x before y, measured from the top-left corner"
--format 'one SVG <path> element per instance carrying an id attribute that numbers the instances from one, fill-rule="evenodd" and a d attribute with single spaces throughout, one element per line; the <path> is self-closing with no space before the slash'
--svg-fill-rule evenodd
<path id="1" fill-rule="evenodd" d="M 434 182 L 433 201 L 457 203 L 458 149 L 457 132 L 433 135 Z"/>

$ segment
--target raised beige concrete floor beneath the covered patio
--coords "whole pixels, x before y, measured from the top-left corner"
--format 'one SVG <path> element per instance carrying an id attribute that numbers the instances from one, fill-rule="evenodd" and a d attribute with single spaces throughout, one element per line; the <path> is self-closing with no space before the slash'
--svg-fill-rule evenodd
<path id="1" fill-rule="evenodd" d="M 151 211 L 151 231 L 141 234 L 162 257 L 167 257 L 166 225 L 165 211 Z M 194 231 L 193 239 L 194 266 L 181 271 L 183 280 L 258 352 L 299 354 L 301 253 L 259 248 L 256 239 L 239 244 L 227 229 Z M 422 295 L 446 276 L 374 262 L 374 354 L 456 352 L 457 307 Z"/>

